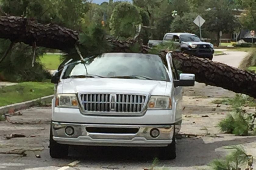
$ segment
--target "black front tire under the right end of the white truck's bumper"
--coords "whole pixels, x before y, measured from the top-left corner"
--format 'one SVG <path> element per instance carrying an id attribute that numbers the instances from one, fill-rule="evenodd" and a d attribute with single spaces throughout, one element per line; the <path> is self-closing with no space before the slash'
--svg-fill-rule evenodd
<path id="1" fill-rule="evenodd" d="M 163 147 L 160 149 L 161 153 L 159 158 L 162 160 L 171 160 L 176 158 L 176 141 L 175 136 L 172 138 L 172 143 L 167 147 Z"/>

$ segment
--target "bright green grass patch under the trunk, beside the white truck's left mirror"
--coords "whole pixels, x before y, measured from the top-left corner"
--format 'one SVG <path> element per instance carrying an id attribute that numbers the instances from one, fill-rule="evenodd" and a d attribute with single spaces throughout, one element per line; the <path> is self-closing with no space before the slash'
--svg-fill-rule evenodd
<path id="1" fill-rule="evenodd" d="M 47 70 L 57 70 L 62 61 L 61 55 L 58 54 L 44 54 L 39 59 Z"/>

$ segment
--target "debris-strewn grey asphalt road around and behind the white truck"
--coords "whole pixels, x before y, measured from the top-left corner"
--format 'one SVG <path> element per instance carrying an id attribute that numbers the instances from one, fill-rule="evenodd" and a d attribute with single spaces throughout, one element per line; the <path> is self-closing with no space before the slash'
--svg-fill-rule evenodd
<path id="1" fill-rule="evenodd" d="M 215 56 L 214 61 L 237 67 L 247 54 L 231 51 L 225 51 L 225 53 L 226 55 Z M 207 98 L 209 93 L 218 94 L 219 92 L 218 97 L 230 95 L 230 92 L 219 89 L 217 87 L 205 87 L 204 84 L 197 84 L 196 87 L 187 89 L 183 103 L 184 115 L 190 115 L 191 117 L 184 118 L 181 132 L 203 134 L 204 131 L 201 129 L 207 127 L 209 133 L 219 133 L 215 126 L 219 119 L 224 117 L 219 113 L 226 114 L 228 109 L 223 106 L 212 111 L 212 108 L 216 108 L 215 105 L 210 104 L 214 98 Z M 27 156 L 0 154 L 0 170 L 142 170 L 143 168 L 150 168 L 153 160 L 159 154 L 155 148 L 72 147 L 69 150 L 69 158 L 53 159 L 50 158 L 48 149 L 51 108 L 34 107 L 22 110 L 21 113 L 22 116 L 10 117 L 10 121 L 23 124 L 0 123 L 0 152 L 20 153 L 26 151 Z M 207 114 L 210 118 L 202 118 L 201 114 Z M 34 122 L 34 124 L 26 124 L 26 122 Z M 5 139 L 6 135 L 14 133 L 25 134 L 27 137 Z M 207 165 L 213 159 L 220 158 L 226 153 L 222 147 L 227 145 L 246 144 L 251 154 L 256 153 L 254 149 L 256 148 L 255 137 L 240 138 L 230 135 L 224 135 L 223 137 L 179 139 L 177 140 L 177 158 L 172 161 L 158 161 L 155 169 L 208 169 Z M 35 155 L 37 154 L 41 158 L 36 158 Z"/>

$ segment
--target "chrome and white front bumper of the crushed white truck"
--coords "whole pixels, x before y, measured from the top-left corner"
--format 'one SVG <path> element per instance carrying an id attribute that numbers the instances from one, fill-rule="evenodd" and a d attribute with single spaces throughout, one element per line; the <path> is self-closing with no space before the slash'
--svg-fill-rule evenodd
<path id="1" fill-rule="evenodd" d="M 73 127 L 74 134 L 69 136 L 66 127 Z M 89 128 L 137 129 L 136 132 L 116 133 L 88 132 Z M 150 131 L 157 128 L 160 132 L 156 138 L 151 137 Z M 174 125 L 113 125 L 113 124 L 75 124 L 52 122 L 53 140 L 60 144 L 88 146 L 134 146 L 134 147 L 164 147 L 172 143 Z"/>

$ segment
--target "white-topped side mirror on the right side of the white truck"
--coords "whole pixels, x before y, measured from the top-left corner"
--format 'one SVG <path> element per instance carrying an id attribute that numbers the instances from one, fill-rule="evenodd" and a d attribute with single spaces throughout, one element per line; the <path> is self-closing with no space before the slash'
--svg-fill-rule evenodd
<path id="1" fill-rule="evenodd" d="M 195 85 L 195 75 L 194 74 L 180 74 L 180 80 L 173 80 L 174 87 L 187 87 Z"/>

